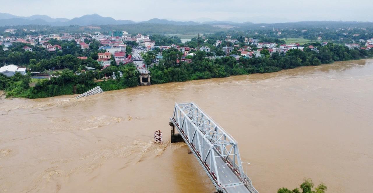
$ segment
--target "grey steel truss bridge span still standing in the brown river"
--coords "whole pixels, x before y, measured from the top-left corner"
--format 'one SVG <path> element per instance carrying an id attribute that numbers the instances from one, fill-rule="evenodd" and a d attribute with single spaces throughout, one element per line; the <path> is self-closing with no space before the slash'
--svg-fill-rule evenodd
<path id="1" fill-rule="evenodd" d="M 236 140 L 194 102 L 175 103 L 170 120 L 218 192 L 258 193 L 243 171 Z"/>

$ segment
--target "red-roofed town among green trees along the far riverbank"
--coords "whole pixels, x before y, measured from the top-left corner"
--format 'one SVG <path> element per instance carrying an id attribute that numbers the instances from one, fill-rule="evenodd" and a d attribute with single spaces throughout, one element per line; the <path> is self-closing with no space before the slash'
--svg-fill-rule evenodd
<path id="1" fill-rule="evenodd" d="M 326 30 L 330 31 L 330 29 Z M 196 37 L 187 39 L 185 42 L 181 42 L 181 39 L 175 36 L 143 35 L 141 33 L 132 35 L 120 30 L 111 30 L 107 33 L 94 31 L 79 34 L 70 34 L 68 32 L 38 34 L 35 29 L 5 29 L 0 36 L 0 61 L 2 64 L 0 73 L 6 76 L 14 76 L 16 73 L 29 76 L 29 86 L 39 85 L 36 88 L 40 87 L 40 81 L 42 80 L 57 79 L 62 76 L 64 69 L 68 69 L 69 73 L 74 73 L 77 77 L 89 75 L 85 76 L 84 79 L 87 77 L 88 79 L 95 79 L 94 82 L 88 85 L 83 80 L 82 82 L 85 82 L 83 84 L 74 83 L 72 91 L 68 93 L 55 91 L 54 93 L 43 95 L 50 97 L 60 94 L 82 93 L 96 85 L 101 85 L 104 90 L 111 90 L 136 85 L 151 85 L 151 83 L 158 84 L 172 81 L 226 77 L 246 73 L 276 72 L 280 69 L 297 66 L 320 65 L 333 61 L 372 56 L 373 38 L 360 39 L 360 34 L 347 33 L 348 31 L 356 30 L 369 32 L 367 29 L 360 28 L 338 28 L 335 31 L 345 32 L 343 34 L 346 37 L 353 38 L 348 40 L 352 43 L 341 44 L 333 40 L 332 42 L 322 41 L 322 37 L 326 36 L 327 32 L 320 32 L 315 34 L 314 41 L 300 44 L 298 42 L 285 41 L 287 38 L 279 38 L 281 35 L 288 33 L 288 30 L 275 28 L 265 32 L 249 31 L 246 33 L 247 36 L 242 32 L 197 34 Z M 310 29 L 299 31 L 307 33 Z M 264 35 L 268 36 L 268 33 L 272 34 L 273 37 L 266 38 Z M 26 35 L 22 37 L 20 34 Z M 367 37 L 367 35 L 369 33 L 366 33 L 364 37 Z M 338 41 L 343 41 L 343 38 L 339 38 Z M 330 51 L 333 51 L 336 46 L 343 48 L 347 55 L 333 56 L 334 54 L 330 53 Z M 288 62 L 279 60 L 279 58 L 286 56 L 289 56 Z M 294 60 L 295 58 L 292 59 L 290 56 L 301 58 L 301 62 L 297 63 Z M 224 59 L 226 57 L 232 58 L 235 62 Z M 254 58 L 256 60 L 253 61 L 258 64 L 250 64 L 251 67 L 248 66 L 249 68 L 244 67 L 245 65 L 242 66 L 247 60 Z M 269 60 L 277 60 L 281 64 L 269 64 Z M 170 67 L 182 67 L 188 64 L 198 65 L 201 61 L 231 65 L 233 68 L 229 72 L 223 70 L 223 72 L 217 74 L 202 73 L 197 69 L 192 73 L 179 72 L 182 73 L 180 76 L 173 75 L 172 77 L 164 73 L 164 70 Z M 234 64 L 228 64 L 230 62 Z M 134 67 L 132 68 L 131 66 Z M 66 73 L 67 71 L 65 71 L 64 75 Z M 126 73 L 124 78 L 123 73 Z M 186 74 L 189 75 L 186 76 Z M 112 81 L 105 81 L 119 81 L 121 78 L 123 80 L 119 84 L 120 86 L 108 86 L 110 85 L 109 82 Z M 129 80 L 130 78 L 131 81 Z M 71 82 L 73 80 L 65 79 L 65 81 Z M 65 84 L 60 86 L 63 85 Z M 76 86 L 78 86 L 78 89 L 75 89 Z M 24 88 L 27 87 L 28 85 L 24 86 Z M 4 88 L 5 83 L 1 86 L 1 89 Z M 10 91 L 11 89 L 8 88 L 8 90 Z M 34 90 L 33 92 L 37 91 Z M 12 92 L 8 93 L 9 96 L 12 96 Z M 24 94 L 24 91 L 22 93 Z M 24 96 L 23 94 L 18 93 L 17 95 Z"/>

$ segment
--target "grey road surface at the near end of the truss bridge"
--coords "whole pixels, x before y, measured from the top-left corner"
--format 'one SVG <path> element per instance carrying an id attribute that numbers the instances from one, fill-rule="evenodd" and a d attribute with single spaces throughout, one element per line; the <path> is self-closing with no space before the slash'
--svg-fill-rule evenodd
<path id="1" fill-rule="evenodd" d="M 205 144 L 204 151 L 208 151 L 207 148 L 210 146 Z M 228 164 L 223 161 L 221 157 L 216 158 L 216 166 L 218 167 L 218 174 L 220 177 L 220 183 L 223 184 L 226 192 L 228 193 L 253 193 L 247 189 L 242 181 L 236 176 L 236 174 L 229 168 Z"/>

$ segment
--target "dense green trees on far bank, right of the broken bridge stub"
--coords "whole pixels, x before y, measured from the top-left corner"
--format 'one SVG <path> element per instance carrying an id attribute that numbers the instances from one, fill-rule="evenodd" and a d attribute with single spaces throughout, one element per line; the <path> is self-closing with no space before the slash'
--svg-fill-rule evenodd
<path id="1" fill-rule="evenodd" d="M 152 83 L 182 82 L 186 80 L 209 79 L 228 77 L 231 75 L 244 75 L 252 73 L 277 72 L 282 69 L 292 69 L 300 66 L 317 66 L 332 63 L 333 61 L 355 60 L 366 56 L 373 56 L 373 50 L 350 50 L 342 45 L 329 43 L 319 46 L 320 52 L 309 48 L 289 50 L 285 54 L 273 53 L 272 56 L 258 58 L 222 57 L 216 60 L 206 58 L 204 51 L 197 51 L 192 57 L 192 63 L 180 62 L 177 50 L 163 54 L 159 65 L 153 66 L 150 71 Z"/>

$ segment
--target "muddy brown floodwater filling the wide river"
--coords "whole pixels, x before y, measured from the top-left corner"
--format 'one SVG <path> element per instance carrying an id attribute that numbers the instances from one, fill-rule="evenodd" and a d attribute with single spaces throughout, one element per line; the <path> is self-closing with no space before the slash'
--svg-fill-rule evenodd
<path id="1" fill-rule="evenodd" d="M 260 193 L 305 177 L 330 193 L 373 189 L 372 59 L 74 97 L 1 96 L 0 192 L 214 192 L 187 146 L 169 142 L 175 101 L 238 141 Z"/>

